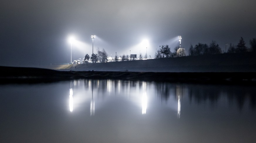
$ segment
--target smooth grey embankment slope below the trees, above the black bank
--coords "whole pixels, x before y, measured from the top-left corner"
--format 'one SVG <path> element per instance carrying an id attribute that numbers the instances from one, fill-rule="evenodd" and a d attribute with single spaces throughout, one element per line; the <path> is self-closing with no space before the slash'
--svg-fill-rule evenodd
<path id="1" fill-rule="evenodd" d="M 52 66 L 55 70 L 256 72 L 256 52 Z"/>

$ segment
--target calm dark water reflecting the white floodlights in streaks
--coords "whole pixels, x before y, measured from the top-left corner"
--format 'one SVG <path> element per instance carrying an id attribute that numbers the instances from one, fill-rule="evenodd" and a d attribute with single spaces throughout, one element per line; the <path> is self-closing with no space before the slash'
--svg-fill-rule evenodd
<path id="1" fill-rule="evenodd" d="M 256 142 L 255 86 L 72 80 L 0 91 L 0 142 Z"/>

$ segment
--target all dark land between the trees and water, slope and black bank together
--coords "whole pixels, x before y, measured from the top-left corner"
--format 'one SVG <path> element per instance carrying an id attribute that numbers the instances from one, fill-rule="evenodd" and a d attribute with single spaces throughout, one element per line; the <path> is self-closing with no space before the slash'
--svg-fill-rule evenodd
<path id="1" fill-rule="evenodd" d="M 0 83 L 116 79 L 203 84 L 255 84 L 255 61 L 256 53 L 247 52 L 47 67 L 50 69 L 0 66 L 2 71 Z"/>

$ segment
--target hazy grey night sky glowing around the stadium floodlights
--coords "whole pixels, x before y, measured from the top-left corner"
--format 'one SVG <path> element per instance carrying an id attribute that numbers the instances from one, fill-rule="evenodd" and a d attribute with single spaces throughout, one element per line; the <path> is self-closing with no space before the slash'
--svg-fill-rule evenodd
<path id="1" fill-rule="evenodd" d="M 160 45 L 181 46 L 215 40 L 246 46 L 256 38 L 254 0 L 1 0 L 0 66 L 68 63 L 104 49 L 108 56 L 147 53 Z M 143 43 L 147 40 L 148 43 Z M 228 47 L 227 47 L 228 48 Z"/>

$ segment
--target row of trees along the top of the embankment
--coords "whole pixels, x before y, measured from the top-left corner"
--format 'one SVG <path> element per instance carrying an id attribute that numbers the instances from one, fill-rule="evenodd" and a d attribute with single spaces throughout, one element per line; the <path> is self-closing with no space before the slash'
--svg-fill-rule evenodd
<path id="1" fill-rule="evenodd" d="M 256 38 L 252 38 L 249 41 L 250 47 L 245 46 L 245 41 L 243 37 L 240 38 L 239 43 L 234 45 L 232 43 L 225 45 L 225 50 L 221 50 L 221 47 L 216 41 L 212 41 L 209 45 L 198 43 L 195 46 L 190 45 L 188 56 L 200 56 L 207 54 L 222 54 L 222 53 L 240 53 L 240 52 L 256 52 Z M 169 57 L 184 57 L 187 56 L 184 47 L 175 47 L 174 52 L 171 52 L 169 45 L 160 46 L 159 50 L 156 51 L 154 58 L 169 58 Z M 147 54 L 144 56 L 145 59 L 151 58 Z M 86 54 L 84 61 L 96 62 L 107 62 L 107 61 L 130 61 L 130 60 L 142 60 L 143 56 L 140 54 L 138 57 L 131 57 L 131 55 L 121 55 L 114 58 L 108 59 L 107 52 L 103 49 L 102 51 L 97 49 L 97 54 L 92 54 L 91 57 Z"/>

